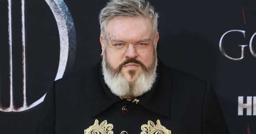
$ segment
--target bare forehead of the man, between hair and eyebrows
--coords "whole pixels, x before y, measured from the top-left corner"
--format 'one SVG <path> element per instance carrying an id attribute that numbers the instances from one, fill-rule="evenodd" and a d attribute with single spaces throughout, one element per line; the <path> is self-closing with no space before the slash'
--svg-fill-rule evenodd
<path id="1" fill-rule="evenodd" d="M 152 38 L 153 26 L 150 19 L 143 16 L 124 17 L 116 16 L 106 25 L 106 35 L 113 35 L 123 41 L 137 41 L 143 38 Z"/>

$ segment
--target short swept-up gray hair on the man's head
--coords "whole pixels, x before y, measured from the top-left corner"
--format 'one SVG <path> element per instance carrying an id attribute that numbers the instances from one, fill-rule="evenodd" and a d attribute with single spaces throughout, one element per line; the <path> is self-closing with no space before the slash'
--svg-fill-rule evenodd
<path id="1" fill-rule="evenodd" d="M 158 24 L 158 13 L 154 7 L 145 0 L 110 0 L 107 5 L 101 10 L 99 15 L 101 25 L 101 35 L 105 38 L 105 27 L 115 16 L 144 16 L 151 20 L 153 30 L 156 33 Z"/>

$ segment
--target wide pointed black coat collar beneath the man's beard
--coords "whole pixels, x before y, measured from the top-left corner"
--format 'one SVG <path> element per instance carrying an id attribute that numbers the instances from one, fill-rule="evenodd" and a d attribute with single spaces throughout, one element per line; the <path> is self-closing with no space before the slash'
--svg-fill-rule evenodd
<path id="1" fill-rule="evenodd" d="M 169 117 L 171 101 L 171 77 L 170 71 L 158 62 L 157 79 L 153 88 L 142 96 L 137 97 L 140 101 L 137 105 L 151 110 L 155 113 Z M 90 79 L 90 78 L 89 78 Z M 94 117 L 121 100 L 112 94 L 103 80 L 101 72 L 101 61 L 91 72 L 91 82 L 89 88 L 89 100 L 91 106 L 91 116 Z"/>

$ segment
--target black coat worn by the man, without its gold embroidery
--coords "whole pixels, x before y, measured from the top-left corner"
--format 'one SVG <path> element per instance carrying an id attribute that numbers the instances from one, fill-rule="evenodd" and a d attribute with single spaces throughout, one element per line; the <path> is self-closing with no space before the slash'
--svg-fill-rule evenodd
<path id="1" fill-rule="evenodd" d="M 172 134 L 229 133 L 210 84 L 162 63 L 157 73 L 154 87 L 137 97 L 138 104 L 111 93 L 103 80 L 101 62 L 62 78 L 47 92 L 35 133 L 83 134 L 95 119 L 99 124 L 104 120 L 113 124 L 114 134 L 140 134 L 141 125 L 148 120 L 156 125 L 158 119 Z"/>

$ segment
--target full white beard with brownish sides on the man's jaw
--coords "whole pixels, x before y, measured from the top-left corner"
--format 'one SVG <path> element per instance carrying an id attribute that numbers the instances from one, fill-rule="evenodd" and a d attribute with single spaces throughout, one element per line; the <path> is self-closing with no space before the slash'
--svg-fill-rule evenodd
<path id="1" fill-rule="evenodd" d="M 155 52 L 154 52 L 155 54 Z M 102 74 L 104 76 L 104 81 L 110 88 L 111 92 L 119 97 L 134 98 L 143 95 L 144 93 L 151 90 L 155 79 L 157 76 L 157 57 L 154 55 L 154 60 L 148 71 L 142 70 L 138 77 L 130 82 L 124 77 L 123 73 L 114 72 L 112 66 L 105 57 L 106 53 L 103 55 L 102 59 Z M 108 64 L 108 65 L 107 65 Z"/>

